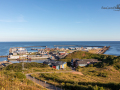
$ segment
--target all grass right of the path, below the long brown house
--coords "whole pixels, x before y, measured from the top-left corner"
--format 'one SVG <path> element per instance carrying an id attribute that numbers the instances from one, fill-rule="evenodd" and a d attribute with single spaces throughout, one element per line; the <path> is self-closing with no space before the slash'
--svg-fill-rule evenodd
<path id="1" fill-rule="evenodd" d="M 47 81 L 65 90 L 119 90 L 120 72 L 113 66 L 104 68 L 78 67 L 74 73 L 41 73 L 32 74 L 33 77 Z"/>

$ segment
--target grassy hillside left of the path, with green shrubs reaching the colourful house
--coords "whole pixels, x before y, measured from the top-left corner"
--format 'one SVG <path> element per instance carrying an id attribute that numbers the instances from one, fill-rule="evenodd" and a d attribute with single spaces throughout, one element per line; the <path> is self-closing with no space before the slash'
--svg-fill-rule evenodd
<path id="1" fill-rule="evenodd" d="M 46 90 L 46 88 L 28 80 L 24 73 L 36 70 L 52 70 L 49 66 L 40 63 L 25 63 L 25 70 L 22 70 L 22 63 L 11 64 L 0 70 L 0 90 Z M 33 70 L 31 70 L 33 68 Z M 35 69 L 34 69 L 35 68 Z"/>

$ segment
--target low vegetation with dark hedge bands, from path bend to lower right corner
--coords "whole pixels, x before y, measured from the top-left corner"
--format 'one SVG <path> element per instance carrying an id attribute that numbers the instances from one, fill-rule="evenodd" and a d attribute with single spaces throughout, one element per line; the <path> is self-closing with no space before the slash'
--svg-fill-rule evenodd
<path id="1" fill-rule="evenodd" d="M 111 81 L 109 75 L 103 77 L 74 73 L 42 73 L 32 76 L 65 90 L 118 90 L 120 88 L 120 80 L 115 80 L 116 77 Z"/>

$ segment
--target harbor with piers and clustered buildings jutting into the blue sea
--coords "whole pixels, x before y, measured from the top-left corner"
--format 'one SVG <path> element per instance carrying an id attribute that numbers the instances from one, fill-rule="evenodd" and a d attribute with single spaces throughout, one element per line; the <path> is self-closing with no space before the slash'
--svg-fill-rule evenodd
<path id="1" fill-rule="evenodd" d="M 54 45 L 55 46 L 55 45 Z M 79 46 L 79 45 L 56 45 L 56 46 Z M 82 45 L 83 46 L 83 45 Z M 69 53 L 73 53 L 75 51 L 85 51 L 94 54 L 104 54 L 107 50 L 109 50 L 110 46 L 89 46 L 86 47 L 68 47 L 68 48 L 48 48 L 47 46 L 27 46 L 31 48 L 31 52 L 28 52 L 25 47 L 12 47 L 9 49 L 9 55 L 0 56 L 6 57 L 7 60 L 59 60 L 64 58 Z M 36 48 L 36 47 L 45 47 L 44 49 Z M 33 52 L 33 50 L 35 52 Z"/>

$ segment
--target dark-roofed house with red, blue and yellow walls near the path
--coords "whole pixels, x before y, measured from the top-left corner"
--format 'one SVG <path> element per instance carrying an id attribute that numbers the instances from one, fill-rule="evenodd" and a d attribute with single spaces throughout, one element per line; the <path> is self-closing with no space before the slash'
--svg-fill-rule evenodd
<path id="1" fill-rule="evenodd" d="M 62 62 L 62 61 L 54 61 L 54 60 L 46 60 L 43 62 L 43 64 L 47 64 L 50 67 L 53 67 L 57 70 L 59 69 L 65 69 L 67 67 L 67 63 L 66 62 Z"/>

